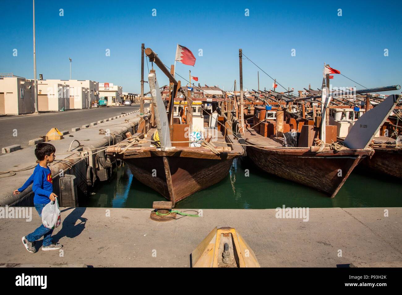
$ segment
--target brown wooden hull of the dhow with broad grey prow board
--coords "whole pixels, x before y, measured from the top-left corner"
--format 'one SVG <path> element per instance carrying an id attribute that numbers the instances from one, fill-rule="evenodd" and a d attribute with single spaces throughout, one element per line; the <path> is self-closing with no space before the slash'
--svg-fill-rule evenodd
<path id="1" fill-rule="evenodd" d="M 247 157 L 260 169 L 317 189 L 334 197 L 355 166 L 369 151 L 320 153 L 310 149 L 275 149 L 247 146 Z"/>

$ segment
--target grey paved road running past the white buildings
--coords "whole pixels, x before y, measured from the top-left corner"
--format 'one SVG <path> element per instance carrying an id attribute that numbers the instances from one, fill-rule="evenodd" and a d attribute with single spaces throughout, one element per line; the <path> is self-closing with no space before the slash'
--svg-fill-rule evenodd
<path id="1" fill-rule="evenodd" d="M 145 104 L 144 107 L 148 107 Z M 96 122 L 138 110 L 139 105 L 113 106 L 109 108 L 91 108 L 84 110 L 71 110 L 66 112 L 49 112 L 42 114 L 29 114 L 20 116 L 6 116 L 0 118 L 0 147 L 12 144 L 21 144 L 21 147 L 28 146 L 28 141 L 45 135 L 51 128 L 56 127 L 60 131 L 69 130 L 74 127 L 81 127 L 84 124 Z M 14 129 L 17 136 L 13 136 Z M 3 155 L 3 154 L 0 154 Z"/>

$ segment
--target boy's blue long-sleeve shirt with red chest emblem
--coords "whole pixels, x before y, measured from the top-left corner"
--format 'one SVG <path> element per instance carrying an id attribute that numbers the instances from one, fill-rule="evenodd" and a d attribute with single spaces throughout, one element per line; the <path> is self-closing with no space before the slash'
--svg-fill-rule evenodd
<path id="1" fill-rule="evenodd" d="M 49 196 L 53 192 L 53 179 L 51 177 L 51 171 L 49 167 L 42 167 L 37 165 L 32 175 L 24 183 L 18 191 L 23 191 L 29 185 L 32 185 L 32 191 L 35 193 L 33 197 L 33 202 L 35 204 L 47 204 L 50 202 Z"/>

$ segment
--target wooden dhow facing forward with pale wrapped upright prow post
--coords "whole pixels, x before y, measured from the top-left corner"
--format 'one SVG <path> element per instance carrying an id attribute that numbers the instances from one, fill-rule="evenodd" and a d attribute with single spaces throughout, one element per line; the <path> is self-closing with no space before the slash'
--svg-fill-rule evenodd
<path id="1" fill-rule="evenodd" d="M 145 53 L 170 79 L 172 91 L 168 114 L 155 71 L 151 70 L 148 80 L 152 94 L 152 114 L 141 121 L 136 134 L 129 134 L 126 140 L 107 149 L 106 153 L 127 163 L 138 181 L 172 201 L 174 206 L 185 197 L 224 179 L 233 160 L 243 155 L 244 149 L 232 144 L 234 136 L 228 134 L 226 128 L 218 128 L 217 114 L 193 113 L 193 107 L 201 108 L 202 105 L 193 104 L 191 92 L 187 93 L 188 108 L 185 109 L 185 116 L 175 118 L 172 98 L 177 96 L 180 81 L 176 81 L 172 75 L 174 66 L 169 72 L 150 48 Z M 147 120 L 149 130 L 145 123 Z M 192 130 L 196 129 L 197 124 L 201 124 L 205 136 L 195 142 L 190 135 L 193 135 Z M 159 140 L 155 138 L 156 131 Z M 152 143 L 157 146 L 151 146 Z"/>

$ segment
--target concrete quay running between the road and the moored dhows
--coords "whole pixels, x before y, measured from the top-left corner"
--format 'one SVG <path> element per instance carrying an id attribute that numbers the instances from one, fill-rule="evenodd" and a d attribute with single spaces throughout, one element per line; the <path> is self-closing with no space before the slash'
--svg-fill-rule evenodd
<path id="1" fill-rule="evenodd" d="M 129 120 L 129 122 L 125 120 Z M 129 112 L 122 118 L 113 120 L 113 122 L 105 122 L 97 124 L 96 126 L 88 126 L 81 130 L 73 132 L 72 137 L 68 134 L 61 140 L 51 140 L 49 143 L 53 144 L 56 148 L 56 160 L 49 166 L 52 171 L 53 177 L 53 192 L 59 195 L 59 174 L 72 174 L 76 176 L 74 185 L 83 193 L 87 190 L 87 174 L 88 174 L 88 161 L 91 167 L 95 167 L 95 155 L 80 158 L 83 151 L 93 150 L 102 146 L 113 144 L 113 141 L 119 142 L 125 138 L 125 133 L 131 131 L 133 133 L 134 126 L 138 123 L 138 112 Z M 96 123 L 95 123 L 96 124 Z M 99 130 L 109 130 L 107 134 L 100 134 Z M 115 136 L 119 134 L 120 136 Z M 33 136 L 34 137 L 34 136 Z M 78 140 L 81 146 L 78 147 Z M 71 144 L 71 151 L 69 153 Z M 27 146 L 24 149 L 8 153 L 0 157 L 1 170 L 15 171 L 8 174 L 3 174 L 0 177 L 0 206 L 5 205 L 32 205 L 33 192 L 32 186 L 25 189 L 18 195 L 13 195 L 13 191 L 21 187 L 29 176 L 33 173 L 33 168 L 36 165 L 35 146 Z M 90 154 L 89 151 L 87 154 Z M 62 160 L 62 161 L 60 161 Z M 22 171 L 18 171 L 22 170 Z M 15 173 L 15 175 L 13 175 Z M 4 177 L 10 175 L 9 177 Z"/>

